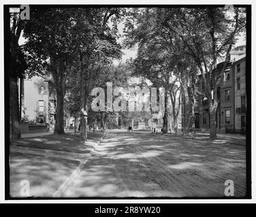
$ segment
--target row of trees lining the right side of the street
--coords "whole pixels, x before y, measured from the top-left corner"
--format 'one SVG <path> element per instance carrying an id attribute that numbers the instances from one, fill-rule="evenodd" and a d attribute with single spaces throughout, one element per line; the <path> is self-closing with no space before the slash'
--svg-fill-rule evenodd
<path id="1" fill-rule="evenodd" d="M 133 75 L 143 76 L 153 85 L 165 87 L 165 102 L 169 96 L 174 125 L 179 111 L 175 99 L 180 88 L 185 100 L 185 134 L 189 120 L 195 121 L 195 96 L 202 94 L 209 102 L 210 138 L 216 138 L 217 86 L 223 77 L 231 48 L 238 35 L 244 32 L 245 14 L 244 8 L 238 7 L 233 10 L 158 7 L 129 11 L 125 23 L 125 45 L 138 45 L 137 58 L 129 61 Z M 223 63 L 217 68 L 218 62 Z M 195 85 L 199 81 L 205 84 L 203 93 Z M 167 115 L 165 103 L 163 132 L 167 132 Z"/>

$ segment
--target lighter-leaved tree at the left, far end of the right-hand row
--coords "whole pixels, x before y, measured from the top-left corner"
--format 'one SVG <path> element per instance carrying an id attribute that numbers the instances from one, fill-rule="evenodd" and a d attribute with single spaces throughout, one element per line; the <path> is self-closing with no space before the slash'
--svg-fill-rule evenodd
<path id="1" fill-rule="evenodd" d="M 127 47 L 138 45 L 138 56 L 132 62 L 134 75 L 149 79 L 153 85 L 165 87 L 163 133 L 167 133 L 167 96 L 177 93 L 172 91 L 177 81 L 175 66 L 178 60 L 173 49 L 174 38 L 161 24 L 161 9 L 135 9 L 132 15 L 133 18 L 135 17 L 135 24 L 133 20 L 131 22 L 128 19 L 125 45 Z M 171 99 L 175 108 L 174 96 Z M 173 112 L 175 111 L 174 109 Z"/>

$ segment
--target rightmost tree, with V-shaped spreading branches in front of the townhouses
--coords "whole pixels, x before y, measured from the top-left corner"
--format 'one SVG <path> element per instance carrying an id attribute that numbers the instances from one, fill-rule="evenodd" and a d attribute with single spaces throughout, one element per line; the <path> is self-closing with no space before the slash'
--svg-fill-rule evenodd
<path id="1" fill-rule="evenodd" d="M 227 18 L 226 14 L 227 9 L 220 7 L 176 8 L 163 14 L 163 24 L 187 45 L 187 54 L 193 58 L 206 85 L 204 94 L 209 102 L 211 139 L 217 136 L 217 86 L 236 36 L 244 31 L 245 26 L 243 8 L 236 7 L 231 18 Z M 218 60 L 224 62 L 217 71 Z"/>

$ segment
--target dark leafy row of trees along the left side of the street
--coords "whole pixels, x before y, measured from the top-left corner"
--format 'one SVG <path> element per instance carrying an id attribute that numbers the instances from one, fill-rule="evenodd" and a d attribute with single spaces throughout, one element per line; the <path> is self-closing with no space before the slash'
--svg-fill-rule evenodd
<path id="1" fill-rule="evenodd" d="M 99 81 L 97 77 L 106 73 L 114 58 L 121 57 L 121 45 L 116 42 L 117 24 L 124 15 L 125 9 L 116 7 L 31 6 L 29 20 L 21 20 L 18 14 L 11 18 L 12 139 L 20 138 L 17 78 L 39 75 L 51 78 L 49 84 L 57 94 L 54 134 L 65 134 L 63 117 L 67 94 L 74 102 L 73 109 L 80 110 L 81 138 L 86 140 L 89 94 Z M 26 42 L 20 46 L 21 32 Z M 26 67 L 16 66 L 17 59 L 24 60 Z"/>

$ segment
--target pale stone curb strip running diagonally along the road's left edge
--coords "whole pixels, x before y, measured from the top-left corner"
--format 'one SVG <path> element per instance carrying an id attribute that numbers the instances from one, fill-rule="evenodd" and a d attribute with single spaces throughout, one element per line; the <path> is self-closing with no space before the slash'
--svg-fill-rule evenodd
<path id="1" fill-rule="evenodd" d="M 74 172 L 72 172 L 71 176 L 69 176 L 69 178 L 67 178 L 65 180 L 65 182 L 63 184 L 61 184 L 59 189 L 54 192 L 52 197 L 61 197 L 61 195 L 63 195 L 63 193 L 65 193 L 65 191 L 67 191 L 67 189 L 69 189 L 69 187 L 72 184 L 74 184 L 74 180 L 76 180 L 77 176 L 80 174 L 82 167 L 84 167 L 84 164 L 90 159 L 92 152 L 97 151 L 96 147 L 101 144 L 101 141 L 103 140 L 104 136 L 106 136 L 106 134 L 107 134 L 107 132 L 105 131 L 103 133 L 103 136 L 101 136 L 101 139 L 99 140 L 99 142 L 97 142 L 97 144 L 95 146 L 93 146 L 93 150 L 91 151 L 91 153 L 88 154 L 89 155 L 88 158 L 80 161 L 80 164 L 78 165 L 78 167 L 76 167 L 76 170 L 74 170 Z"/>

